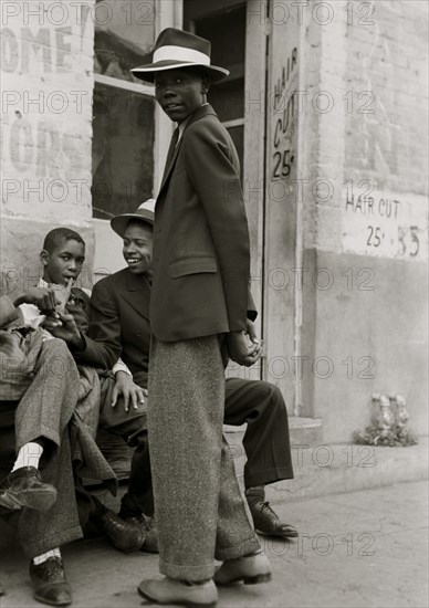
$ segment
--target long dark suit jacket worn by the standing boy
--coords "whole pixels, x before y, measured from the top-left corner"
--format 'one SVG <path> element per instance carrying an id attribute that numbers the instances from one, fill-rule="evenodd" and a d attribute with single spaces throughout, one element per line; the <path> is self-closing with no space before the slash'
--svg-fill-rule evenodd
<path id="1" fill-rule="evenodd" d="M 163 342 L 245 331 L 249 231 L 233 143 L 206 105 L 185 127 L 157 198 L 150 325 Z"/>

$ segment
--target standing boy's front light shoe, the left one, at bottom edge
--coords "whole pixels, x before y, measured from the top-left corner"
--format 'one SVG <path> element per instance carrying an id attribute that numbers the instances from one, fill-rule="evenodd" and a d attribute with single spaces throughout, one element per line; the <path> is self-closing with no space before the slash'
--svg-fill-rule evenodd
<path id="1" fill-rule="evenodd" d="M 165 577 L 159 580 L 142 580 L 137 589 L 140 596 L 157 604 L 207 608 L 216 606 L 218 601 L 218 589 L 211 579 L 200 585 L 189 585 L 182 580 Z"/>

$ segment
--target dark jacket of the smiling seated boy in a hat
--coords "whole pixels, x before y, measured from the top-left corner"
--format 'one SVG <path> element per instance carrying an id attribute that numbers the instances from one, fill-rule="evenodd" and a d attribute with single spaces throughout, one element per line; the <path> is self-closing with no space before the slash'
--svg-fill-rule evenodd
<path id="1" fill-rule="evenodd" d="M 129 367 L 134 381 L 147 386 L 150 348 L 150 283 L 128 269 L 94 285 L 90 305 L 90 337 L 76 357 L 80 363 L 111 370 L 118 357 Z"/>

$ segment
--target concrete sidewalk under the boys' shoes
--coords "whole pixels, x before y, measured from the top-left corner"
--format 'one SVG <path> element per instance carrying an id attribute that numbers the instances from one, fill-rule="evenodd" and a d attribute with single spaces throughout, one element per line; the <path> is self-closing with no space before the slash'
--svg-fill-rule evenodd
<path id="1" fill-rule="evenodd" d="M 268 585 L 220 589 L 219 608 L 426 608 L 428 482 L 414 481 L 320 497 L 275 501 L 300 537 L 263 538 L 273 568 Z M 280 499 L 280 494 L 278 495 Z M 145 605 L 137 584 L 158 576 L 158 558 L 122 554 L 102 539 L 63 551 L 75 608 Z M 21 554 L 2 556 L 2 608 L 39 607 Z"/>

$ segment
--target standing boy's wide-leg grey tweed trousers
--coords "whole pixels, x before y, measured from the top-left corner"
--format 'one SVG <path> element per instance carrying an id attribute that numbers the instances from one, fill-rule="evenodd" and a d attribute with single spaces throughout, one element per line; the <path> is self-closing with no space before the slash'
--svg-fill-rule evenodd
<path id="1" fill-rule="evenodd" d="M 171 578 L 208 579 L 214 558 L 260 548 L 222 436 L 219 336 L 175 343 L 153 337 L 148 388 L 159 568 Z"/>

